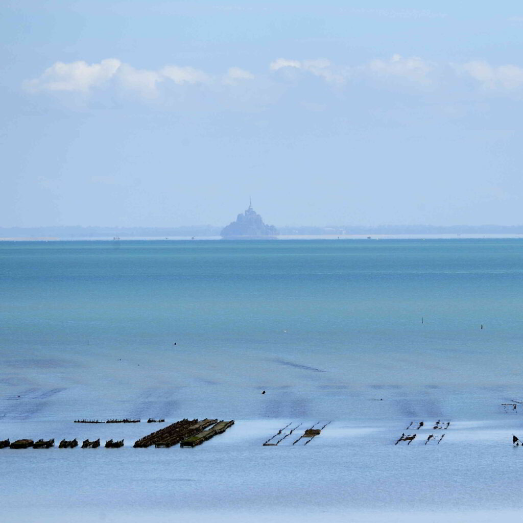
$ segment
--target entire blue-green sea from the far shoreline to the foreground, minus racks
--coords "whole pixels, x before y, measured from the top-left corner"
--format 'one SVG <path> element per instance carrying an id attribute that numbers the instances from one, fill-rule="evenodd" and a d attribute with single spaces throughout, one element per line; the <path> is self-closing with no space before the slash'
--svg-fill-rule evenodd
<path id="1" fill-rule="evenodd" d="M 4 506 L 26 521 L 519 509 L 501 404 L 523 401 L 522 272 L 513 239 L 2 242 L 0 439 L 126 438 L 87 459 L 0 450 Z M 84 417 L 236 424 L 166 452 L 128 448 L 157 427 Z M 394 446 L 440 418 L 446 445 Z M 261 447 L 293 420 L 332 424 L 307 447 Z"/>

